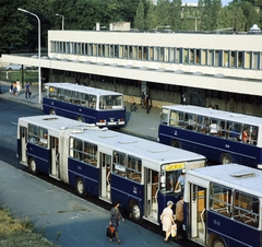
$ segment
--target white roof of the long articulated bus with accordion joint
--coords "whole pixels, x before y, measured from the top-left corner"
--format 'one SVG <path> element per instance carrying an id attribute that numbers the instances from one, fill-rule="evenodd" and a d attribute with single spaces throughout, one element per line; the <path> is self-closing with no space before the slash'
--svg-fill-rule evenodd
<path id="1" fill-rule="evenodd" d="M 126 133 L 108 130 L 107 128 L 99 129 L 96 126 L 68 119 L 60 116 L 43 115 L 34 117 L 24 117 L 19 119 L 19 124 L 26 126 L 26 122 L 44 127 L 50 132 L 57 132 L 56 136 L 67 130 L 70 137 L 79 138 L 84 141 L 92 142 L 98 146 L 110 148 L 119 152 L 124 152 L 133 156 L 152 162 L 153 169 L 158 169 L 158 165 L 163 163 L 186 162 L 205 160 L 203 155 L 189 151 L 175 149 L 169 145 L 158 142 L 145 140 L 142 138 L 129 136 Z M 92 126 L 92 127 L 91 127 Z M 74 130 L 84 129 L 83 132 Z M 72 130 L 72 131 L 70 131 Z M 153 163 L 154 162 L 154 163 Z"/>

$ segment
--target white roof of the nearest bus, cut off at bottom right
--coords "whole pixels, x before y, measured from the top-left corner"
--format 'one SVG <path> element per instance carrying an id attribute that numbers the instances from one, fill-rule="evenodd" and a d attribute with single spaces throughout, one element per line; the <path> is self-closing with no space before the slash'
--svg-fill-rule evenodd
<path id="1" fill-rule="evenodd" d="M 192 181 L 192 176 L 262 197 L 260 169 L 239 164 L 225 164 L 188 170 L 186 179 Z"/>

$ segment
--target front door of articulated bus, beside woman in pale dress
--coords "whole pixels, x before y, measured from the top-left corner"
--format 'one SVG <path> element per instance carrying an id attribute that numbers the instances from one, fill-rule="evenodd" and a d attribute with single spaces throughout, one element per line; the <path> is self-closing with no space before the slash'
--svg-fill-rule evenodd
<path id="1" fill-rule="evenodd" d="M 157 222 L 158 215 L 158 173 L 150 168 L 145 169 L 144 176 L 144 195 L 145 195 L 145 205 L 144 205 L 144 216 L 154 223 Z"/>

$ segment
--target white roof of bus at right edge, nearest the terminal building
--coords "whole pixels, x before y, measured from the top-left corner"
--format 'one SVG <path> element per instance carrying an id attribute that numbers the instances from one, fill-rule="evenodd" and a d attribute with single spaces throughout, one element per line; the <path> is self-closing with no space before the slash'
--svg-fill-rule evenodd
<path id="1" fill-rule="evenodd" d="M 262 118 L 250 115 L 236 114 L 225 110 L 211 109 L 207 107 L 191 106 L 191 105 L 167 105 L 162 108 L 186 111 L 189 114 L 201 115 L 212 118 L 225 119 L 228 121 L 243 122 L 247 125 L 261 126 Z"/>

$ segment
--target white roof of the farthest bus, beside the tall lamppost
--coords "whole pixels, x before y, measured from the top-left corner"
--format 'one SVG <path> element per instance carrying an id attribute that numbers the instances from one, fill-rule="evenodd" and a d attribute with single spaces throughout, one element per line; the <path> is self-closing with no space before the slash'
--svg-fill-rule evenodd
<path id="1" fill-rule="evenodd" d="M 68 83 L 68 82 L 64 82 L 64 83 L 49 82 L 49 83 L 45 83 L 45 85 L 56 86 L 58 89 L 70 90 L 70 91 L 80 92 L 80 93 L 102 95 L 102 96 L 103 95 L 122 95 L 121 93 L 118 93 L 118 92 L 100 90 L 100 89 L 85 86 L 85 85 L 78 85 L 78 84 L 72 84 L 72 83 Z"/>

